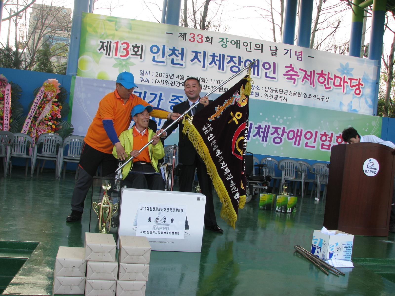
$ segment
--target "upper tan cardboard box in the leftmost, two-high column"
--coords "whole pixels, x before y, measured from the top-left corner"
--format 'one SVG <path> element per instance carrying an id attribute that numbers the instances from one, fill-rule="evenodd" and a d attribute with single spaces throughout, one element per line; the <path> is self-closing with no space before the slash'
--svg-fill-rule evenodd
<path id="1" fill-rule="evenodd" d="M 85 277 L 86 270 L 85 248 L 59 247 L 55 260 L 56 276 Z"/>

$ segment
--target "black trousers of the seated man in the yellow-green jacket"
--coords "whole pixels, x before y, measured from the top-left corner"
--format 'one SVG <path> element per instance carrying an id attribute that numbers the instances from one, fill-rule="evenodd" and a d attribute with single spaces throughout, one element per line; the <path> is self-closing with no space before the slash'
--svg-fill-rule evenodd
<path id="1" fill-rule="evenodd" d="M 137 172 L 137 173 L 133 173 Z M 144 174 L 143 172 L 156 172 L 150 163 L 134 163 L 131 173 L 122 181 L 122 186 L 136 189 L 165 190 L 165 181 L 162 175 Z"/>

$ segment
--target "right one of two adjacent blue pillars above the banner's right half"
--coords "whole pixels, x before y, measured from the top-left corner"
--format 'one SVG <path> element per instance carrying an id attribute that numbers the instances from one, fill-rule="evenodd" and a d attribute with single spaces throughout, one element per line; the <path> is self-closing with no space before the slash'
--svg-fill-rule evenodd
<path id="1" fill-rule="evenodd" d="M 300 0 L 297 46 L 310 47 L 313 2 L 314 0 Z"/>

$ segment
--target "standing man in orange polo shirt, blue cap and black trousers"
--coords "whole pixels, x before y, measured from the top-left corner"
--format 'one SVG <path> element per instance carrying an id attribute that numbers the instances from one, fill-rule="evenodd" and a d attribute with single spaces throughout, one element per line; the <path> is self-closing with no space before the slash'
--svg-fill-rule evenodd
<path id="1" fill-rule="evenodd" d="M 119 158 L 124 160 L 128 155 L 119 142 L 118 136 L 126 131 L 132 121 L 130 112 L 135 105 L 149 105 L 146 101 L 133 94 L 134 76 L 122 72 L 117 77 L 115 91 L 106 94 L 99 102 L 96 116 L 90 124 L 84 139 L 84 146 L 79 161 L 78 178 L 75 182 L 71 198 L 71 214 L 66 221 L 74 222 L 81 219 L 84 211 L 84 200 L 87 197 L 93 176 L 99 165 L 102 165 L 102 176 L 114 174 L 117 169 L 117 159 L 112 155 L 113 147 Z M 180 114 L 161 109 L 153 109 L 150 116 L 162 119 L 179 118 Z"/>

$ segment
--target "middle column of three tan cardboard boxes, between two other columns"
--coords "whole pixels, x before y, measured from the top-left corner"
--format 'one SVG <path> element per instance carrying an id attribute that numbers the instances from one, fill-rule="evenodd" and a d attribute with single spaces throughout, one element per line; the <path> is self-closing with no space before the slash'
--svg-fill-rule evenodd
<path id="1" fill-rule="evenodd" d="M 85 233 L 87 264 L 86 296 L 115 296 L 118 262 L 117 245 L 112 234 Z"/>

